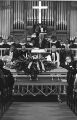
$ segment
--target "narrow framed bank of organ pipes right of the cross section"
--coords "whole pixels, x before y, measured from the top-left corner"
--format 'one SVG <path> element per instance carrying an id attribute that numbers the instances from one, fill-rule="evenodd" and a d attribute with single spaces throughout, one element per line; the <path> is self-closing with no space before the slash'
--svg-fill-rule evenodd
<path id="1" fill-rule="evenodd" d="M 56 29 L 57 30 L 67 30 L 67 3 L 57 2 L 56 7 Z"/>

